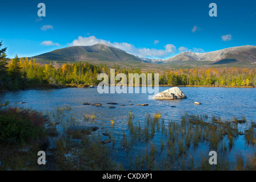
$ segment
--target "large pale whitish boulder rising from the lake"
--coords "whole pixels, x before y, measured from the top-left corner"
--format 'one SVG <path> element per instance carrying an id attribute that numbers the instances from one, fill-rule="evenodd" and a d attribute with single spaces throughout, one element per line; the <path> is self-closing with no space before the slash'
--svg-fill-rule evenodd
<path id="1" fill-rule="evenodd" d="M 155 100 L 169 100 L 179 98 L 187 98 L 187 96 L 185 96 L 185 94 L 177 86 L 160 92 L 153 97 Z"/>

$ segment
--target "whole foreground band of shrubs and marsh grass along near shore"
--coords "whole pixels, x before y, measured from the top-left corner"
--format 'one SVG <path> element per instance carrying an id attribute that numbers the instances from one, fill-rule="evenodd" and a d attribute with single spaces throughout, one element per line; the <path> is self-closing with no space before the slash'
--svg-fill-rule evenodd
<path id="1" fill-rule="evenodd" d="M 256 123 L 246 118 L 222 121 L 185 113 L 174 122 L 153 113 L 137 121 L 129 112 L 125 122 L 110 121 L 106 125 L 113 130 L 101 133 L 95 115 L 85 118 L 93 127 L 71 130 L 79 122 L 66 117 L 69 110 L 66 106 L 43 115 L 1 106 L 0 170 L 256 170 Z M 127 130 L 117 133 L 117 125 Z M 241 142 L 246 150 L 239 148 Z M 40 166 L 41 150 L 47 163 Z M 209 151 L 217 152 L 217 165 L 209 164 Z M 117 152 L 126 154 L 122 162 L 115 159 Z"/>

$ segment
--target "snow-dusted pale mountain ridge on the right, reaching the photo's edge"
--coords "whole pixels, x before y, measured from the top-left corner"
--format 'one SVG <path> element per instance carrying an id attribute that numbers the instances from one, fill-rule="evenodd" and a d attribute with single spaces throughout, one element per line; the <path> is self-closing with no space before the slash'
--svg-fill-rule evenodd
<path id="1" fill-rule="evenodd" d="M 182 52 L 169 59 L 165 64 L 256 64 L 256 46 L 239 46 L 219 51 L 195 53 Z"/>

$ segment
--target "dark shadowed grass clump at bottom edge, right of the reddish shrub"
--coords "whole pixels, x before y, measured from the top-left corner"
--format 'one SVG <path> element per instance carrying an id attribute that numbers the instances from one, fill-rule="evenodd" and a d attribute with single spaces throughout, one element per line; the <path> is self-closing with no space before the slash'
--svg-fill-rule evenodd
<path id="1" fill-rule="evenodd" d="M 112 150 L 101 144 L 99 136 L 83 135 L 81 143 L 74 146 L 72 139 L 64 136 L 56 140 L 55 165 L 60 170 L 114 170 L 118 165 L 112 159 Z"/>

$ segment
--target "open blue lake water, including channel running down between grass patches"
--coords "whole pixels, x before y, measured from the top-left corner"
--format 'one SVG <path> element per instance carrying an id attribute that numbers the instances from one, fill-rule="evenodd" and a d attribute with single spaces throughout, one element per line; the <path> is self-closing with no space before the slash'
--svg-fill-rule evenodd
<path id="1" fill-rule="evenodd" d="M 168 87 L 159 87 L 159 92 L 169 89 Z M 127 158 L 127 152 L 122 150 L 122 134 L 129 135 L 127 127 L 127 117 L 131 111 L 134 121 L 145 121 L 147 113 L 161 113 L 165 121 L 181 121 L 181 116 L 185 113 L 189 115 L 214 115 L 221 117 L 222 121 L 231 121 L 234 117 L 247 121 L 256 121 L 256 89 L 251 88 L 203 88 L 203 87 L 180 87 L 187 99 L 182 100 L 149 100 L 149 94 L 99 94 L 97 88 L 67 88 L 51 90 L 23 90 L 18 92 L 0 93 L 0 103 L 9 101 L 12 106 L 30 107 L 32 109 L 43 111 L 56 111 L 59 107 L 71 106 L 71 110 L 65 110 L 67 117 L 75 118 L 79 125 L 98 126 L 99 130 L 95 134 L 101 135 L 103 132 L 111 133 L 115 137 L 115 151 L 119 162 L 125 169 L 129 169 L 130 158 Z M 195 105 L 194 102 L 200 102 L 201 105 Z M 25 104 L 19 104 L 26 102 Z M 91 104 L 99 102 L 102 107 L 83 105 L 85 102 Z M 110 109 L 107 102 L 117 102 L 114 109 Z M 125 106 L 121 106 L 125 105 Z M 133 105 L 130 105 L 133 104 Z M 149 104 L 148 106 L 138 106 L 137 104 Z M 175 107 L 172 107 L 175 106 Z M 95 115 L 95 121 L 85 121 L 84 115 Z M 63 119 L 63 118 L 62 118 Z M 114 127 L 111 121 L 114 119 Z M 160 146 L 161 134 L 156 134 L 152 142 Z M 102 136 L 104 139 L 104 136 Z M 112 146 L 110 143 L 109 146 Z M 131 156 L 139 154 L 146 148 L 146 143 L 139 143 L 134 147 Z M 194 151 L 195 159 L 200 158 L 202 154 L 207 154 L 209 148 L 202 145 L 200 150 Z M 230 151 L 229 158 L 234 159 L 237 151 L 242 154 L 253 151 L 245 145 L 243 137 L 238 137 L 234 150 Z"/>

